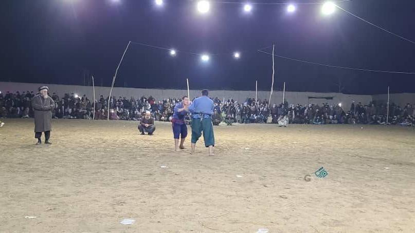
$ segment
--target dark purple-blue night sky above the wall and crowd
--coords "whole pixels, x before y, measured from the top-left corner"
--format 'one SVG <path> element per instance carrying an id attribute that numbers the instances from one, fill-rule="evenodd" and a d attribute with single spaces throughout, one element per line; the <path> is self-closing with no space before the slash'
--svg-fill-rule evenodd
<path id="1" fill-rule="evenodd" d="M 0 8 L 0 81 L 111 86 L 112 76 L 129 41 L 194 53 L 222 53 L 202 63 L 199 56 L 131 45 L 115 86 L 211 90 L 269 90 L 275 53 L 315 63 L 374 70 L 412 72 L 415 44 L 374 28 L 337 10 L 329 17 L 321 5 L 299 5 L 287 14 L 284 5 L 211 2 L 208 15 L 196 1 L 165 0 L 5 0 Z M 240 2 L 232 0 L 229 2 Z M 243 1 L 244 2 L 244 1 Z M 252 2 L 286 3 L 287 0 Z M 298 0 L 301 3 L 316 2 Z M 415 41 L 415 1 L 353 0 L 342 8 Z M 241 51 L 235 60 L 232 52 Z M 272 47 L 266 49 L 272 52 Z M 353 71 L 275 58 L 275 90 L 351 94 L 415 92 L 415 74 Z M 87 79 L 88 81 L 89 79 Z"/>

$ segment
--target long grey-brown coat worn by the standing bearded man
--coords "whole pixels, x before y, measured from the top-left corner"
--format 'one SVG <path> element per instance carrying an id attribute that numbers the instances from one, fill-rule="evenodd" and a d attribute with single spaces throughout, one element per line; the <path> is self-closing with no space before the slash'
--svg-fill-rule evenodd
<path id="1" fill-rule="evenodd" d="M 44 99 L 41 95 L 36 95 L 33 97 L 32 107 L 34 111 L 34 131 L 50 131 L 52 129 L 52 109 L 55 108 L 55 101 L 50 96 Z"/>

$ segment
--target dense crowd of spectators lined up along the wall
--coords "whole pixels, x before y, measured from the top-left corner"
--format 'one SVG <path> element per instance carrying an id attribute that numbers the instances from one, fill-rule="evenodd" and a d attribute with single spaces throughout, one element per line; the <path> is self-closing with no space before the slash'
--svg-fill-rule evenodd
<path id="1" fill-rule="evenodd" d="M 33 110 L 31 100 L 33 91 L 20 93 L 0 93 L 0 118 L 32 118 Z M 95 104 L 95 119 L 106 120 L 108 111 L 108 98 L 102 95 L 99 99 L 91 102 L 86 95 L 78 96 L 74 93 L 64 94 L 60 98 L 52 93 L 51 98 L 55 101 L 53 118 L 55 119 L 93 119 Z M 412 126 L 414 123 L 414 109 L 411 104 L 403 108 L 395 104 L 389 106 L 389 119 L 387 120 L 387 105 L 371 102 L 367 105 L 352 103 L 350 109 L 344 109 L 340 105 L 329 104 L 301 104 L 289 105 L 273 104 L 268 108 L 266 100 L 255 100 L 247 98 L 244 103 L 237 101 L 212 99 L 214 102 L 214 113 L 212 122 L 219 125 L 225 122 L 251 124 L 251 123 L 278 123 L 284 119 L 290 124 L 374 124 L 374 125 L 403 125 Z M 156 100 L 152 96 L 141 96 L 141 98 L 127 99 L 119 96 L 110 98 L 111 120 L 133 120 L 141 119 L 145 111 L 150 111 L 155 121 L 170 121 L 173 115 L 174 105 L 181 98 L 166 98 Z M 190 119 L 187 119 L 190 120 Z"/>

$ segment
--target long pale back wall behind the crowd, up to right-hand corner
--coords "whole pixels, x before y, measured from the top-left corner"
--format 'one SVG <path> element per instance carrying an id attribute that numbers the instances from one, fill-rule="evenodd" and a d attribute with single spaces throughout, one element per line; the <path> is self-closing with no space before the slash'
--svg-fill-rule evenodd
<path id="1" fill-rule="evenodd" d="M 59 96 L 62 96 L 64 93 L 76 93 L 78 95 L 86 94 L 89 99 L 92 99 L 93 88 L 89 86 L 75 86 L 75 85 L 57 85 L 57 84 L 33 84 L 33 83 L 10 83 L 10 82 L 0 82 L 0 91 L 6 92 L 15 92 L 15 91 L 34 91 L 37 92 L 40 86 L 46 85 L 49 87 L 50 93 L 56 92 Z M 110 87 L 95 87 L 96 99 L 99 99 L 100 95 L 103 95 L 104 98 L 107 98 L 110 93 Z M 149 96 L 152 95 L 155 99 L 160 100 L 163 98 L 180 98 L 183 95 L 187 95 L 187 90 L 172 90 L 172 89 L 141 89 L 141 88 L 123 88 L 123 87 L 114 87 L 113 96 L 125 96 L 131 98 L 133 96 L 135 99 L 139 98 L 142 95 Z M 190 90 L 190 96 L 199 96 L 200 90 Z M 220 99 L 233 98 L 239 103 L 243 103 L 247 97 L 255 98 L 255 91 L 230 91 L 230 90 L 212 90 L 209 91 L 209 95 L 212 97 L 218 97 Z M 350 109 L 352 101 L 356 103 L 362 102 L 363 104 L 369 104 L 372 101 L 371 95 L 348 95 L 342 93 L 317 93 L 317 92 L 285 92 L 285 99 L 290 104 L 302 104 L 306 105 L 309 103 L 309 96 L 312 97 L 332 97 L 333 100 L 326 99 L 310 99 L 311 103 L 329 103 L 330 105 L 336 105 L 342 103 L 342 106 L 345 110 Z M 258 98 L 269 99 L 269 91 L 258 91 Z M 282 91 L 273 92 L 271 103 L 280 104 L 282 103 Z"/>

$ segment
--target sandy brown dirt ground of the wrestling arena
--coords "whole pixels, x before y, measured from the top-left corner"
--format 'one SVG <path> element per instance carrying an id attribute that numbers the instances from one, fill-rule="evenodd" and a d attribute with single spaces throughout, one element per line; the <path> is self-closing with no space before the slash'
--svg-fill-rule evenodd
<path id="1" fill-rule="evenodd" d="M 3 121 L 0 232 L 415 232 L 411 128 L 221 125 L 208 157 L 169 123 L 53 120 L 35 146 L 32 119 Z"/>

